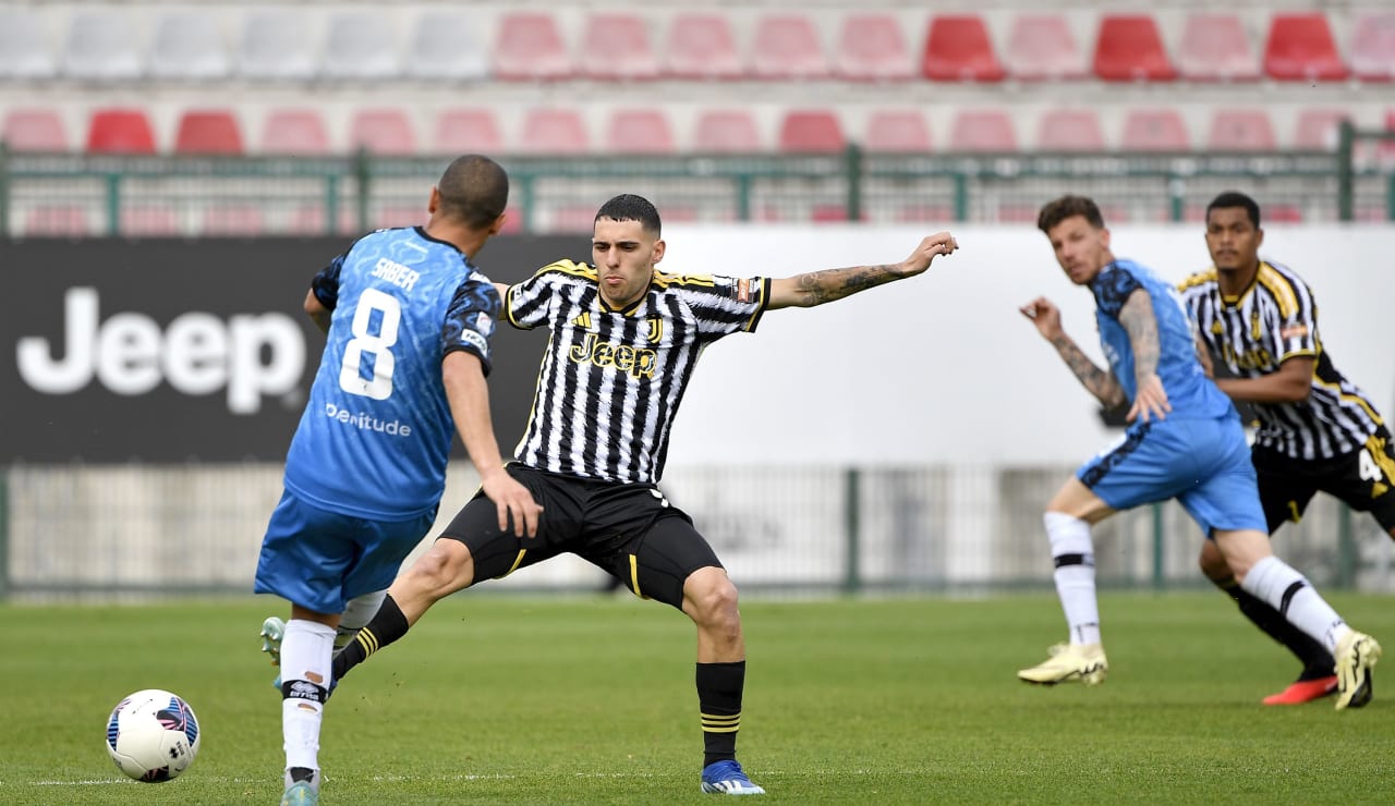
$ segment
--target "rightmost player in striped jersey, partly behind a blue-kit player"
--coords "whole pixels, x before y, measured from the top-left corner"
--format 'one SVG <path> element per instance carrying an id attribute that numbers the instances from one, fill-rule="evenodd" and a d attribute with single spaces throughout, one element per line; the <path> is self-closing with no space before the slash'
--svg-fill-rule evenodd
<path id="1" fill-rule="evenodd" d="M 1208 357 L 1230 375 L 1216 386 L 1249 403 L 1258 420 L 1250 457 L 1269 534 L 1297 522 L 1321 491 L 1370 512 L 1395 537 L 1391 434 L 1370 396 L 1322 347 L 1307 283 L 1288 266 L 1260 259 L 1260 205 L 1242 192 L 1218 195 L 1207 205 L 1205 237 L 1214 265 L 1187 277 L 1182 296 Z M 1264 704 L 1307 703 L 1338 690 L 1328 647 L 1236 584 L 1214 545 L 1201 548 L 1200 563 L 1246 618 L 1303 662 L 1297 680 Z"/>

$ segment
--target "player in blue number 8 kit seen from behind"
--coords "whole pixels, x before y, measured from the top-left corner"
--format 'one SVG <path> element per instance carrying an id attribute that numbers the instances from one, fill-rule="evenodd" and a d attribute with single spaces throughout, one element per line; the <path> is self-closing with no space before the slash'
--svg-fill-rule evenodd
<path id="1" fill-rule="evenodd" d="M 484 378 L 499 296 L 470 262 L 499 230 L 506 201 L 504 169 L 459 158 L 431 191 L 425 227 L 364 236 L 306 296 L 328 339 L 255 581 L 257 593 L 292 605 L 279 647 L 282 803 L 318 800 L 335 630 L 350 602 L 377 609 L 431 529 L 456 431 L 499 529 L 509 519 L 519 535 L 536 527 L 537 505 L 504 471 L 490 420 Z"/>

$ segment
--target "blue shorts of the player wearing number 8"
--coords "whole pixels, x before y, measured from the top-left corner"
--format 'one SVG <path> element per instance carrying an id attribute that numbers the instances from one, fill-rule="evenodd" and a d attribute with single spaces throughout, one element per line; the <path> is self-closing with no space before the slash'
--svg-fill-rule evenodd
<path id="1" fill-rule="evenodd" d="M 289 491 L 266 524 L 257 559 L 257 593 L 321 614 L 384 590 L 421 542 L 435 510 L 410 520 L 365 520 L 311 506 Z"/>

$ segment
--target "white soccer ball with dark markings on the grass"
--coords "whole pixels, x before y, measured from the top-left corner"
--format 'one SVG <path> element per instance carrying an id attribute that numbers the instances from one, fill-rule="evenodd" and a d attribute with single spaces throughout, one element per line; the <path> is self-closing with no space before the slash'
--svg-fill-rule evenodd
<path id="1" fill-rule="evenodd" d="M 144 689 L 123 699 L 106 721 L 106 752 L 116 767 L 146 784 L 177 778 L 198 756 L 198 718 L 179 696 Z"/>

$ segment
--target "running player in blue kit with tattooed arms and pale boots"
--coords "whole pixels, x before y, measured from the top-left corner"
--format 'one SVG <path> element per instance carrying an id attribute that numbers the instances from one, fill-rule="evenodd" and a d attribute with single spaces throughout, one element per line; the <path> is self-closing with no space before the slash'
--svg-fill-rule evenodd
<path id="1" fill-rule="evenodd" d="M 1081 353 L 1049 300 L 1036 298 L 1021 312 L 1101 403 L 1130 404 L 1130 425 L 1046 505 L 1043 522 L 1070 639 L 1017 676 L 1042 685 L 1105 679 L 1089 526 L 1123 509 L 1176 498 L 1246 591 L 1335 655 L 1336 707 L 1364 706 L 1380 644 L 1346 626 L 1303 575 L 1272 555 L 1244 428 L 1229 397 L 1205 377 L 1176 289 L 1113 257 L 1109 230 L 1088 198 L 1067 195 L 1048 204 L 1036 226 L 1070 280 L 1094 294 L 1109 370 Z"/>

